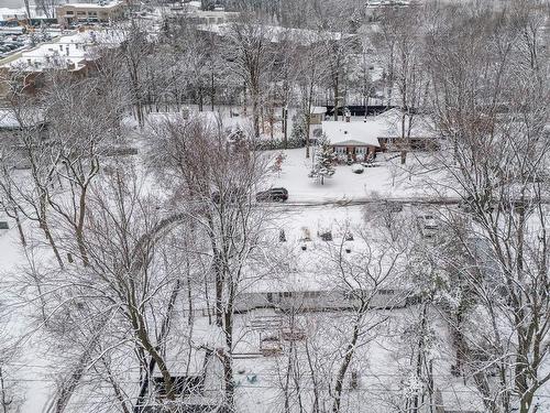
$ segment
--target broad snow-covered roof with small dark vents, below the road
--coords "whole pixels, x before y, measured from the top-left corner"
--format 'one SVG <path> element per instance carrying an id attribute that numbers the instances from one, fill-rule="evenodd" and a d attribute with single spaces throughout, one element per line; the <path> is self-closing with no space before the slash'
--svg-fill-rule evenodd
<path id="1" fill-rule="evenodd" d="M 263 263 L 257 268 L 252 265 L 246 271 L 250 272 L 251 279 L 243 282 L 244 293 L 338 289 L 341 286 L 337 259 L 340 247 L 343 247 L 343 261 L 353 265 L 380 263 L 383 271 L 389 268 L 389 260 L 394 257 L 378 235 L 364 224 L 362 207 L 306 208 L 288 216 L 276 217 L 272 225 L 273 227 L 264 232 L 262 243 L 265 246 L 263 248 L 271 251 L 270 265 L 273 268 L 266 269 Z M 279 239 L 280 230 L 285 233 L 285 241 Z M 323 240 L 321 235 L 327 232 L 330 232 L 332 240 Z M 352 237 L 349 237 L 350 235 Z M 345 249 L 350 252 L 344 252 Z M 371 263 L 367 257 L 372 258 Z M 405 257 L 398 259 L 399 263 L 403 263 L 402 259 Z M 404 268 L 396 268 L 393 280 L 395 289 L 410 286 L 400 272 Z M 381 269 L 373 268 L 373 274 Z M 364 282 L 362 286 L 356 287 L 367 284 L 366 280 Z"/>

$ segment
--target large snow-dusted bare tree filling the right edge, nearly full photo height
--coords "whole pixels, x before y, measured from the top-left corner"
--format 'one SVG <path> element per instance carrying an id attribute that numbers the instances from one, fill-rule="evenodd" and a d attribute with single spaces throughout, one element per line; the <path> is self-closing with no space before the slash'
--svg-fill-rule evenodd
<path id="1" fill-rule="evenodd" d="M 548 10 L 536 1 L 463 18 L 450 9 L 429 39 L 433 109 L 449 142 L 438 156 L 446 174 L 438 187 L 461 197 L 471 219 L 466 232 L 454 233 L 476 264 L 459 270 L 484 315 L 483 323 L 466 320 L 485 333 L 468 335 L 463 354 L 491 412 L 530 411 L 550 379 L 540 370 L 550 305 L 542 287 L 549 141 L 541 12 Z"/>

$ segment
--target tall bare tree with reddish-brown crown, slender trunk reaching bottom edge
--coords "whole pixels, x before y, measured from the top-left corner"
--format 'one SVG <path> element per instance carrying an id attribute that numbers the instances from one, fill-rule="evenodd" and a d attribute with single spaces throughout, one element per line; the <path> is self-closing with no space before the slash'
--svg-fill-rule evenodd
<path id="1" fill-rule="evenodd" d="M 210 241 L 216 325 L 223 347 L 218 349 L 224 368 L 226 403 L 234 405 L 232 351 L 233 314 L 246 269 L 255 260 L 266 211 L 252 202 L 251 191 L 265 174 L 265 162 L 251 152 L 248 140 L 229 143 L 222 126 L 201 118 L 167 120 L 158 128 L 155 164 L 169 176 L 175 207 L 187 213 L 197 231 Z"/>

